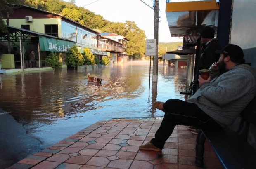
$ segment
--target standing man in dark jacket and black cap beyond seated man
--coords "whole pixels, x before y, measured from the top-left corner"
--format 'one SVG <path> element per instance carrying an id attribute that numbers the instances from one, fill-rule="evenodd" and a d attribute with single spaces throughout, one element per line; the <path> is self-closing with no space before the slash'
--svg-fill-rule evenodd
<path id="1" fill-rule="evenodd" d="M 201 39 L 203 41 L 204 47 L 199 59 L 199 63 L 197 66 L 197 73 L 194 79 L 195 84 L 198 84 L 198 77 L 200 75 L 199 70 L 209 69 L 209 67 L 217 62 L 220 55 L 216 54 L 216 50 L 220 50 L 220 44 L 214 39 L 214 28 L 205 27 L 201 32 Z"/>

